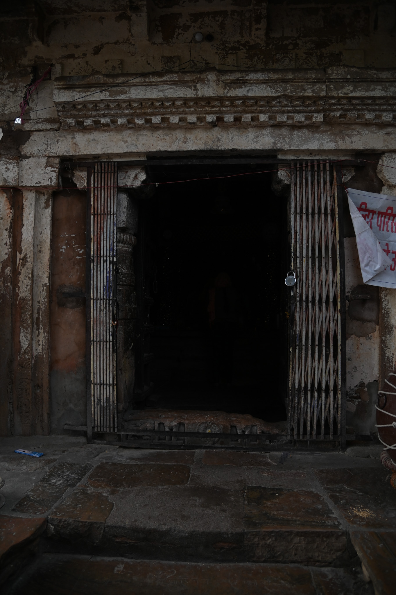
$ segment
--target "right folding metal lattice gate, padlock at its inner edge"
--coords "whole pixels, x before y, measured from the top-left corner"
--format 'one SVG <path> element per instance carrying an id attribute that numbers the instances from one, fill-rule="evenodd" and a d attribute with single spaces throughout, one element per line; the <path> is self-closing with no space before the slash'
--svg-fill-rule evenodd
<path id="1" fill-rule="evenodd" d="M 341 437 L 341 284 L 337 177 L 329 162 L 291 164 L 288 424 L 297 440 Z M 340 194 L 341 196 L 341 194 Z"/>

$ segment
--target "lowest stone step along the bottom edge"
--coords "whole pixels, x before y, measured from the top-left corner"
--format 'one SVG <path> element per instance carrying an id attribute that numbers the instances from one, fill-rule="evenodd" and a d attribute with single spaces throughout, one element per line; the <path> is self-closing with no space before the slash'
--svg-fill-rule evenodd
<path id="1" fill-rule="evenodd" d="M 44 554 L 4 595 L 372 595 L 360 568 Z"/>

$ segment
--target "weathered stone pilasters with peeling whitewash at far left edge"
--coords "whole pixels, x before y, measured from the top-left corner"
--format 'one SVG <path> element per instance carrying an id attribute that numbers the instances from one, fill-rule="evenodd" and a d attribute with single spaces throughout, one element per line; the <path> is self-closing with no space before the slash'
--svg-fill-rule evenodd
<path id="1" fill-rule="evenodd" d="M 49 431 L 51 195 L 1 192 L 2 435 Z"/>

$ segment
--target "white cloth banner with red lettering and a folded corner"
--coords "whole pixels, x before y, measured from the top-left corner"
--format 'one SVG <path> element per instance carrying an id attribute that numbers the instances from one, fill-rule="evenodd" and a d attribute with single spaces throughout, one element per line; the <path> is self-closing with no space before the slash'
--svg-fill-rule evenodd
<path id="1" fill-rule="evenodd" d="M 396 197 L 353 188 L 347 193 L 363 282 L 396 289 Z"/>

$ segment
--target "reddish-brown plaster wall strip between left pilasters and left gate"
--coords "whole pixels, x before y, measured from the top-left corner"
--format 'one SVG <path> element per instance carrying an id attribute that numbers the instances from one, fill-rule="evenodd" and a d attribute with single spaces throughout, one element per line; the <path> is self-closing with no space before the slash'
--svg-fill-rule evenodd
<path id="1" fill-rule="evenodd" d="M 84 425 L 86 415 L 86 194 L 55 193 L 51 275 L 51 433 Z"/>

